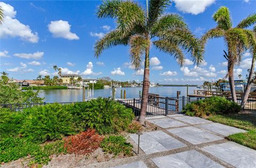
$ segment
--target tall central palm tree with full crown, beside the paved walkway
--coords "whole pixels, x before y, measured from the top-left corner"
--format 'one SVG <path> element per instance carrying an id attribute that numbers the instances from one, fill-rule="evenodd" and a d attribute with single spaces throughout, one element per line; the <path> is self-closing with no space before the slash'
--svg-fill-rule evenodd
<path id="1" fill-rule="evenodd" d="M 148 2 L 148 1 L 147 1 Z M 160 51 L 173 55 L 180 65 L 183 64 L 185 50 L 191 54 L 195 63 L 203 60 L 204 48 L 188 30 L 187 24 L 178 14 L 165 14 L 169 0 L 149 1 L 146 12 L 135 2 L 105 0 L 97 9 L 98 18 L 113 18 L 116 29 L 107 33 L 94 46 L 94 55 L 117 45 L 129 45 L 130 61 L 134 70 L 141 68 L 145 59 L 142 103 L 139 121 L 145 124 L 149 90 L 149 51 L 153 44 Z M 143 59 L 143 54 L 145 54 Z"/>

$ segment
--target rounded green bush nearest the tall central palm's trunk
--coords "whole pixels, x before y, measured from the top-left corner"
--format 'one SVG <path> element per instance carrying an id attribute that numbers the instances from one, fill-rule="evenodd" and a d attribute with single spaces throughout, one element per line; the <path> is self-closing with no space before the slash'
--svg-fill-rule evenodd
<path id="1" fill-rule="evenodd" d="M 95 129 L 100 134 L 124 131 L 134 118 L 130 108 L 108 98 L 76 103 L 72 115 L 77 128 Z"/>

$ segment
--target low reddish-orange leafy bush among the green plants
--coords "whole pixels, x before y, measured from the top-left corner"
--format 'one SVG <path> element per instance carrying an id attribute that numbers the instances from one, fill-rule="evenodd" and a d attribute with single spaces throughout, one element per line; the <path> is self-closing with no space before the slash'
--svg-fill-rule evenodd
<path id="1" fill-rule="evenodd" d="M 102 140 L 103 136 L 95 133 L 95 130 L 88 129 L 78 135 L 66 138 L 65 148 L 68 153 L 86 155 L 99 148 Z"/>

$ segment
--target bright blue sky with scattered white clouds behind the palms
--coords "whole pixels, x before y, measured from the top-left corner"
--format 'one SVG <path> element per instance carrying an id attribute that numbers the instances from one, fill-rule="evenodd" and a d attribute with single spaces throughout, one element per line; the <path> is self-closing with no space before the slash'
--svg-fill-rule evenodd
<path id="1" fill-rule="evenodd" d="M 36 79 L 39 74 L 56 72 L 80 74 L 83 78 L 110 77 L 121 81 L 142 81 L 143 69 L 134 71 L 129 62 L 129 47 L 116 46 L 94 57 L 95 41 L 115 29 L 115 20 L 98 19 L 95 12 L 101 1 L 1 1 L 5 14 L 0 26 L 0 71 L 14 79 Z M 138 1 L 145 9 L 146 1 Z M 183 1 L 174 0 L 166 13 L 180 14 L 189 29 L 199 38 L 216 23 L 212 15 L 220 6 L 227 6 L 233 25 L 256 12 L 256 1 Z M 223 57 L 226 45 L 222 38 L 210 40 L 204 62 L 195 66 L 185 52 L 183 67 L 172 55 L 150 48 L 150 81 L 162 84 L 196 84 L 225 77 L 227 62 Z M 246 78 L 251 65 L 249 52 L 235 67 L 235 78 Z"/>

